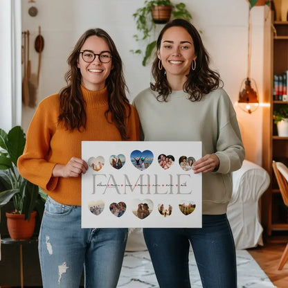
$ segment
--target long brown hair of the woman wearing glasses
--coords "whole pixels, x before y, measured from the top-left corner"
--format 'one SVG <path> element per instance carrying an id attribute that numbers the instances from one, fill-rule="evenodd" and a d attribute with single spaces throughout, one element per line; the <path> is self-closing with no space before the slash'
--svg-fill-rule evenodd
<path id="1" fill-rule="evenodd" d="M 67 60 L 69 64 L 69 70 L 65 74 L 67 86 L 61 89 L 59 93 L 60 115 L 58 121 L 63 121 L 66 129 L 80 130 L 86 127 L 86 103 L 80 88 L 82 76 L 77 64 L 80 49 L 86 39 L 93 35 L 104 39 L 109 46 L 112 55 L 112 65 L 114 67 L 106 79 L 109 108 L 105 111 L 105 117 L 109 121 L 108 116 L 111 114 L 111 121 L 116 125 L 122 139 L 127 140 L 128 135 L 125 123 L 127 123 L 127 118 L 131 114 L 131 107 L 125 93 L 128 89 L 123 75 L 123 64 L 113 40 L 105 30 L 100 28 L 87 30 L 75 44 Z"/>

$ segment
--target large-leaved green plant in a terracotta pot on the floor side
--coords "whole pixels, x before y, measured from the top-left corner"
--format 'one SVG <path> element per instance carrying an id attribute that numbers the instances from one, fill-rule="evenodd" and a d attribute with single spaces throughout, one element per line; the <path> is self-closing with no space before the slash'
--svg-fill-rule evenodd
<path id="1" fill-rule="evenodd" d="M 14 240 L 29 239 L 35 229 L 37 211 L 43 214 L 44 201 L 38 186 L 21 177 L 17 170 L 17 160 L 23 154 L 26 136 L 20 126 L 13 127 L 8 134 L 0 129 L 0 208 L 13 200 L 15 210 L 6 213 L 10 237 Z M 44 195 L 42 195 L 44 197 Z M 20 219 L 19 224 L 15 220 Z M 12 226 L 10 226 L 12 224 Z M 16 225 L 16 226 L 15 226 Z M 24 235 L 21 235 L 23 228 Z"/>

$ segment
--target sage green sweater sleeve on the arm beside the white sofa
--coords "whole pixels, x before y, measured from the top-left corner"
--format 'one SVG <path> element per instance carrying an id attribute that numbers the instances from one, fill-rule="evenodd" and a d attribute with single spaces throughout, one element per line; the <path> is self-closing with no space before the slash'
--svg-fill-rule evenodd
<path id="1" fill-rule="evenodd" d="M 219 99 L 217 114 L 219 131 L 215 154 L 219 168 L 216 172 L 226 174 L 240 169 L 245 157 L 235 110 L 226 93 Z"/>

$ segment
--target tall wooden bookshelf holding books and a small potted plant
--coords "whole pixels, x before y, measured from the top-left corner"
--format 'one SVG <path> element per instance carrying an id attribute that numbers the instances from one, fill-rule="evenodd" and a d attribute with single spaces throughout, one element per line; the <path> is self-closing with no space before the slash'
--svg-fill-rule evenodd
<path id="1" fill-rule="evenodd" d="M 273 21 L 272 18 L 270 14 L 264 24 L 263 98 L 269 105 L 263 107 L 262 166 L 269 173 L 271 184 L 262 197 L 262 224 L 268 236 L 276 231 L 287 231 L 288 235 L 288 209 L 282 201 L 272 169 L 272 161 L 288 165 L 288 135 L 283 135 L 282 132 L 279 135 L 275 123 L 280 109 L 287 107 L 284 110 L 288 111 L 288 99 L 285 96 L 288 75 L 288 21 Z"/>

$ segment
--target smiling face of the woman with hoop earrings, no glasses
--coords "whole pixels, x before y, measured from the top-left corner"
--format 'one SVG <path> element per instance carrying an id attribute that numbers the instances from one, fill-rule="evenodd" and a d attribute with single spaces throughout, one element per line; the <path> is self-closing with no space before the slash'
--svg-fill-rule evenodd
<path id="1" fill-rule="evenodd" d="M 158 57 L 166 71 L 168 82 L 172 78 L 183 78 L 190 73 L 192 60 L 196 60 L 193 39 L 181 26 L 168 28 L 161 39 Z"/>

